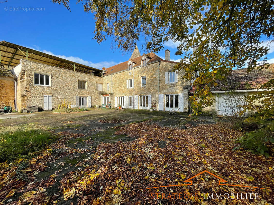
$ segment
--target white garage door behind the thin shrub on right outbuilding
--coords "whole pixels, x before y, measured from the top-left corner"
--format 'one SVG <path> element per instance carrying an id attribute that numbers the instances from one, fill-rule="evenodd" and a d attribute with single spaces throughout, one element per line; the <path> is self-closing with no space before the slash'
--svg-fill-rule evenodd
<path id="1" fill-rule="evenodd" d="M 235 113 L 239 112 L 239 106 L 243 104 L 244 95 L 240 93 L 233 95 L 219 93 L 218 104 L 216 103 L 216 110 L 218 110 L 218 115 L 233 116 Z"/>

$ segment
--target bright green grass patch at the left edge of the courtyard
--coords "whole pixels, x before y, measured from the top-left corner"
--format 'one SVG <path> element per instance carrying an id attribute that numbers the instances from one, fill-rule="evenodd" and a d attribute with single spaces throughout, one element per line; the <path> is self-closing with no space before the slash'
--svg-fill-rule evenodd
<path id="1" fill-rule="evenodd" d="M 34 153 L 53 143 L 56 136 L 48 131 L 17 130 L 5 132 L 0 136 L 0 162 L 14 160 L 18 157 L 30 158 Z"/>

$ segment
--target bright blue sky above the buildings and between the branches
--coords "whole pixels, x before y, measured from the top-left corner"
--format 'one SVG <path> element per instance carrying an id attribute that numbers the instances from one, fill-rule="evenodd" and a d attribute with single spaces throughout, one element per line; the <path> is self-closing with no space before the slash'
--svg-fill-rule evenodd
<path id="1" fill-rule="evenodd" d="M 40 11 L 26 11 L 30 8 Z M 70 8 L 71 12 L 63 5 L 53 4 L 50 0 L 8 0 L 0 3 L 0 40 L 99 69 L 130 58 L 131 53 L 122 55 L 119 49 L 111 49 L 112 38 L 101 44 L 92 39 L 95 21 L 93 14 L 84 12 L 82 4 L 70 1 Z M 146 52 L 142 48 L 143 42 L 141 38 L 138 43 L 141 54 Z M 175 55 L 177 45 L 179 42 L 165 44 L 165 49 L 171 51 L 170 57 L 173 61 L 181 59 L 181 56 Z M 164 50 L 158 55 L 163 58 Z M 274 47 L 270 49 L 267 57 L 270 63 L 274 63 Z"/>

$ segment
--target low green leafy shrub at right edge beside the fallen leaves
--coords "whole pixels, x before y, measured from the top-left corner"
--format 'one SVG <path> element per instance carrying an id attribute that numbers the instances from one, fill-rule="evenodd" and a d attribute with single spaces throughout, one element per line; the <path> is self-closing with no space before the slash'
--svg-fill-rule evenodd
<path id="1" fill-rule="evenodd" d="M 252 153 L 264 154 L 268 157 L 269 148 L 273 147 L 274 143 L 273 131 L 269 130 L 267 127 L 260 128 L 239 137 L 236 142 L 239 142 L 241 145 L 235 147 L 233 150 L 244 147 Z"/>

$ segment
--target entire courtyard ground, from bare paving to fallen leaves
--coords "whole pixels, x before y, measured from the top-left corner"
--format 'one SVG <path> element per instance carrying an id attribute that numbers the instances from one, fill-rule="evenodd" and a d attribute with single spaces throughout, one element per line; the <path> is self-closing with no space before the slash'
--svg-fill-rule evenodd
<path id="1" fill-rule="evenodd" d="M 117 119 L 123 122 L 99 122 Z M 273 158 L 245 150 L 232 151 L 234 139 L 241 132 L 230 128 L 223 118 L 189 118 L 132 109 L 0 116 L 1 133 L 18 129 L 49 130 L 58 140 L 34 153 L 32 159 L 1 164 L 2 204 L 274 201 Z M 208 172 L 193 179 L 191 185 L 184 182 L 205 170 Z M 222 183 L 235 186 L 219 185 L 218 178 L 210 173 L 227 181 Z M 215 193 L 223 197 L 207 199 Z M 251 193 L 252 198 L 226 198 L 225 193 Z"/>

